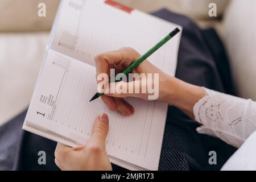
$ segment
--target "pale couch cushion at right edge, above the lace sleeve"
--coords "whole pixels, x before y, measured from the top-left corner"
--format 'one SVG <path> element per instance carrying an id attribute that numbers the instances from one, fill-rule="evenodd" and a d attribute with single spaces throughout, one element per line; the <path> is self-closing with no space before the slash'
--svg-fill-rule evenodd
<path id="1" fill-rule="evenodd" d="M 225 14 L 225 44 L 238 94 L 256 100 L 256 1 L 234 0 Z"/>

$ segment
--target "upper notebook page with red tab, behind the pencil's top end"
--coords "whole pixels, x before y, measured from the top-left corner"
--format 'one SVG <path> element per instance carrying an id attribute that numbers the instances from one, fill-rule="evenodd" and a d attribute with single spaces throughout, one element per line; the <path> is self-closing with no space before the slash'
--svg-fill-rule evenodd
<path id="1" fill-rule="evenodd" d="M 138 10 L 131 13 L 102 0 L 62 1 L 59 23 L 52 49 L 94 65 L 99 53 L 133 47 L 144 54 L 155 46 L 176 24 Z M 148 60 L 174 76 L 181 33 L 155 52 Z"/>

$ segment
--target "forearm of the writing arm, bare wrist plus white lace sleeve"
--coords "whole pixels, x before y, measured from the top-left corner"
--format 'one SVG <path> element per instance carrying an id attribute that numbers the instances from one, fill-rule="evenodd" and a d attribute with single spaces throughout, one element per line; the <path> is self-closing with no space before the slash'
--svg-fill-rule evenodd
<path id="1" fill-rule="evenodd" d="M 256 130 L 256 102 L 171 78 L 166 101 L 201 124 L 200 133 L 240 147 Z"/>

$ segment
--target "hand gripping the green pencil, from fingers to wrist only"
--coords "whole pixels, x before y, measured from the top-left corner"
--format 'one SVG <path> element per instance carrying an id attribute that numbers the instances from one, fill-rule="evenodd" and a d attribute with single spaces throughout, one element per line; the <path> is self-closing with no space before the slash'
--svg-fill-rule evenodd
<path id="1" fill-rule="evenodd" d="M 110 77 L 110 69 L 115 69 L 115 73 L 121 73 L 124 71 L 129 65 L 131 65 L 134 61 L 138 60 L 141 55 L 132 48 L 122 48 L 117 51 L 102 53 L 95 57 L 96 63 L 96 71 L 98 75 L 101 73 L 106 73 Z M 148 96 L 152 93 L 148 93 L 147 86 L 150 88 L 158 89 L 158 97 L 154 100 L 166 101 L 167 94 L 172 92 L 172 88 L 168 86 L 167 82 L 170 82 L 170 76 L 166 73 L 160 71 L 160 69 L 156 68 L 149 61 L 145 60 L 142 64 L 140 64 L 137 68 L 133 70 L 133 73 L 138 73 L 141 77 L 139 79 L 135 79 L 131 82 L 116 82 L 111 83 L 108 86 L 105 86 L 104 96 L 101 96 L 104 103 L 109 107 L 110 110 L 118 110 L 123 115 L 131 115 L 134 113 L 133 106 L 127 103 L 123 98 L 126 97 L 137 97 L 142 98 L 143 100 L 148 100 Z M 144 73 L 141 75 L 141 73 Z M 159 74 L 159 79 L 154 79 L 152 77 L 152 81 L 148 82 L 148 73 L 151 73 L 154 76 L 154 73 Z M 97 80 L 101 82 L 102 80 Z M 156 81 L 156 82 L 155 82 Z M 122 84 L 122 88 L 127 88 L 126 93 L 110 93 L 106 92 L 106 88 L 112 90 L 116 88 L 117 84 Z M 150 85 L 148 85 L 150 84 Z M 158 88 L 155 88 L 158 87 Z M 129 92 L 129 88 L 133 88 L 133 92 Z M 142 89 L 146 89 L 146 92 L 142 93 Z M 140 90 L 139 93 L 135 93 L 135 90 Z"/>

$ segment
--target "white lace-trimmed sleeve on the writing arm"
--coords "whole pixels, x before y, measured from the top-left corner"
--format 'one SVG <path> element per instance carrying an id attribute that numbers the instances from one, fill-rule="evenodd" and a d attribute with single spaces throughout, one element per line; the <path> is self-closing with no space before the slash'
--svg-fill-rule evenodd
<path id="1" fill-rule="evenodd" d="M 235 147 L 256 130 L 256 102 L 205 89 L 205 97 L 193 107 L 197 131 L 218 137 Z"/>

